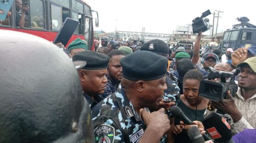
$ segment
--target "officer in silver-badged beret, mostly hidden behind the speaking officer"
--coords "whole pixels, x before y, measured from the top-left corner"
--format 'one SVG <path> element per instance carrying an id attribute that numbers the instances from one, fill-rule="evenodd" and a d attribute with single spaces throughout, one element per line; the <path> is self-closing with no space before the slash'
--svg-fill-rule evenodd
<path id="1" fill-rule="evenodd" d="M 166 58 L 168 58 L 169 55 L 168 45 L 159 39 L 153 39 L 146 42 L 142 45 L 140 50 L 151 51 Z M 168 65 L 166 65 L 166 67 L 167 66 Z M 164 90 L 164 99 L 172 99 L 175 101 L 180 97 L 180 88 L 170 79 L 170 74 L 168 72 L 166 74 L 166 84 L 168 88 Z"/>

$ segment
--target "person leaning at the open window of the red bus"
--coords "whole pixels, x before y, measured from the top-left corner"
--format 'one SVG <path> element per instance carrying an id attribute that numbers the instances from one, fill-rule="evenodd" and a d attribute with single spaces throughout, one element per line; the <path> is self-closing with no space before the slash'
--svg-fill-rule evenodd
<path id="1" fill-rule="evenodd" d="M 22 0 L 15 0 L 15 9 L 16 26 L 23 28 L 25 24 L 25 13 L 29 11 L 29 5 L 22 5 Z M 19 11 L 21 11 L 21 15 Z"/>

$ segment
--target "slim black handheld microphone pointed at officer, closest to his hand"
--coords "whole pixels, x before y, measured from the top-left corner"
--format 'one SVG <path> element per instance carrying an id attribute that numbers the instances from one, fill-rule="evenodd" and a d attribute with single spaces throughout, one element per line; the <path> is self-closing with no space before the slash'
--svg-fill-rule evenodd
<path id="1" fill-rule="evenodd" d="M 175 118 L 180 119 L 183 121 L 186 125 L 194 125 L 192 121 L 190 121 L 187 116 L 182 112 L 182 110 L 178 106 L 172 106 L 170 109 L 170 112 L 172 113 L 172 116 Z M 205 140 L 211 140 L 209 137 L 207 137 L 205 134 L 203 134 L 203 137 Z"/>

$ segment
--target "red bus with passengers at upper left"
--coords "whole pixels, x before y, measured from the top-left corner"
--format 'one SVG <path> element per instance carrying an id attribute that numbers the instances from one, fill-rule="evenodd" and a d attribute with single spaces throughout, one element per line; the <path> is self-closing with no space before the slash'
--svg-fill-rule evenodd
<path id="1" fill-rule="evenodd" d="M 80 23 L 68 44 L 80 37 L 87 41 L 89 50 L 94 50 L 92 10 L 85 0 L 14 0 L 10 12 L 12 15 L 0 22 L 0 29 L 29 33 L 49 41 L 54 40 L 66 17 L 75 19 Z M 95 22 L 97 26 L 98 17 Z"/>

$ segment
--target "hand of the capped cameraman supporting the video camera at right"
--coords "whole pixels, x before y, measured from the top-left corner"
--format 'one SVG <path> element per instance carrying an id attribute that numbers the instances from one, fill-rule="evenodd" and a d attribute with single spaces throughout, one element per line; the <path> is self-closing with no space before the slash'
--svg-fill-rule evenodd
<path id="1" fill-rule="evenodd" d="M 234 122 L 239 121 L 242 118 L 242 114 L 238 110 L 235 104 L 234 98 L 231 96 L 230 91 L 227 91 L 228 99 L 222 99 L 221 101 L 211 101 L 214 107 L 222 112 L 225 112 L 233 118 Z"/>

